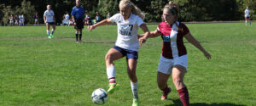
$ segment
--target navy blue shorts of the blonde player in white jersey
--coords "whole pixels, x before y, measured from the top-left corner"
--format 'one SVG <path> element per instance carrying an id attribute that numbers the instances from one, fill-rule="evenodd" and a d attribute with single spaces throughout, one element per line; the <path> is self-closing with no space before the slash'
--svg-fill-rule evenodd
<path id="1" fill-rule="evenodd" d="M 114 49 L 118 50 L 120 53 L 123 54 L 123 56 L 126 56 L 126 59 L 138 59 L 138 53 L 137 51 L 128 50 L 122 47 L 114 46 Z"/>

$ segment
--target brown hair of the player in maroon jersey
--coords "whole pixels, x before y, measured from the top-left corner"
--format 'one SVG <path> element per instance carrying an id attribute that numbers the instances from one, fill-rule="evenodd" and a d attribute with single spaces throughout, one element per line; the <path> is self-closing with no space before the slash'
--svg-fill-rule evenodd
<path id="1" fill-rule="evenodd" d="M 179 13 L 179 7 L 176 3 L 172 3 L 172 5 L 167 4 L 164 9 L 168 9 L 170 14 Z M 180 25 L 177 25 L 177 22 L 175 22 L 175 25 L 177 26 L 178 31 L 183 31 L 183 28 L 181 28 Z"/>

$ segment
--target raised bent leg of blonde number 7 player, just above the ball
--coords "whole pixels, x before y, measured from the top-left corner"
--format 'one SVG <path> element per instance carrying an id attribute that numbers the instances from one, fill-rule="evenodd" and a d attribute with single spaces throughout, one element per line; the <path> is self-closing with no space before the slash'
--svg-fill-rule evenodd
<path id="1" fill-rule="evenodd" d="M 107 67 L 107 75 L 109 80 L 109 89 L 108 93 L 112 94 L 115 90 L 119 88 L 119 84 L 115 82 L 115 68 L 113 61 L 117 59 L 123 58 L 123 54 L 121 53 L 121 49 L 119 47 L 113 47 L 109 49 L 108 53 L 105 56 L 106 67 Z"/>

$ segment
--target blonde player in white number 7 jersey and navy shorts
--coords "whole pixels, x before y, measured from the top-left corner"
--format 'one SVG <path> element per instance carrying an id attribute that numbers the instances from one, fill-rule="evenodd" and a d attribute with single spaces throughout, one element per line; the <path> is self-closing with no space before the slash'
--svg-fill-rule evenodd
<path id="1" fill-rule="evenodd" d="M 106 54 L 107 75 L 109 79 L 108 93 L 111 94 L 119 88 L 119 84 L 115 81 L 113 61 L 126 56 L 127 71 L 131 80 L 131 90 L 133 94 L 133 106 L 138 105 L 137 96 L 137 76 L 136 67 L 138 59 L 138 50 L 143 42 L 146 42 L 149 31 L 147 25 L 143 22 L 144 15 L 142 11 L 131 3 L 130 0 L 121 0 L 119 3 L 120 14 L 115 14 L 107 20 L 102 20 L 96 25 L 90 25 L 89 31 L 92 31 L 97 26 L 116 23 L 118 25 L 118 38 L 115 46 L 109 49 Z M 145 32 L 145 36 L 138 39 L 137 31 L 141 27 Z"/>

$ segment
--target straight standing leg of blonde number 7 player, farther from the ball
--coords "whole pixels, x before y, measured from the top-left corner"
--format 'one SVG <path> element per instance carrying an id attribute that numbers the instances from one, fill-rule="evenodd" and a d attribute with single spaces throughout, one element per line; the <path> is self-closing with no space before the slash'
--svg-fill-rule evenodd
<path id="1" fill-rule="evenodd" d="M 132 106 L 139 105 L 138 94 L 137 94 L 138 82 L 137 82 L 136 68 L 137 68 L 137 59 L 128 59 L 127 72 L 131 80 L 131 91 L 133 94 Z"/>

